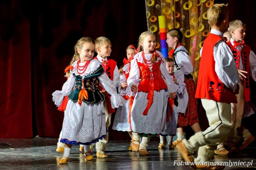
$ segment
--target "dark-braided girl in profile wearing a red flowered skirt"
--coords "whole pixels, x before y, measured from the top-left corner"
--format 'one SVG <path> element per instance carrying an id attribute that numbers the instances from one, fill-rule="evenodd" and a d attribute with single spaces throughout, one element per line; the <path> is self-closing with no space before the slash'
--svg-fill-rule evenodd
<path id="1" fill-rule="evenodd" d="M 188 92 L 188 105 L 186 113 L 180 113 L 177 122 L 177 140 L 173 142 L 175 146 L 177 142 L 186 138 L 186 133 L 183 131 L 184 126 L 190 125 L 195 133 L 200 132 L 198 114 L 197 114 L 197 99 L 196 84 L 193 80 L 191 72 L 193 72 L 193 65 L 191 63 L 188 51 L 182 45 L 183 34 L 179 29 L 171 29 L 167 32 L 167 44 L 172 50 L 169 52 L 169 57 L 174 61 L 175 75 L 184 75 L 184 83 Z"/>

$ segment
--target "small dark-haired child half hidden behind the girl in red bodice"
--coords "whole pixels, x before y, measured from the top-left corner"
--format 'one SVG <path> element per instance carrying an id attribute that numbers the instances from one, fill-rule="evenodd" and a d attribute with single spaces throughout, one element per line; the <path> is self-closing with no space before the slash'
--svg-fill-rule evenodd
<path id="1" fill-rule="evenodd" d="M 171 58 L 165 58 L 166 68 L 170 74 L 171 79 L 179 85 L 176 91 L 176 99 L 178 105 L 174 105 L 174 99 L 168 98 L 168 108 L 167 108 L 167 128 L 160 134 L 160 143 L 158 148 L 164 147 L 165 136 L 168 136 L 168 149 L 174 149 L 172 144 L 173 136 L 176 134 L 177 120 L 179 113 L 185 113 L 188 104 L 188 94 L 186 90 L 186 84 L 184 83 L 184 74 L 175 75 L 174 71 L 174 61 Z"/>

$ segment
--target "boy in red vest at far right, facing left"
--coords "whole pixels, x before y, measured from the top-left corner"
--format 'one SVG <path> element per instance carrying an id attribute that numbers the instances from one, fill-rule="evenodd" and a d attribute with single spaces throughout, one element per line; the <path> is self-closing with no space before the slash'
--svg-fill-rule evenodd
<path id="1" fill-rule="evenodd" d="M 246 116 L 247 113 L 244 113 L 244 105 L 250 102 L 250 82 L 249 78 L 252 76 L 253 80 L 256 81 L 256 55 L 251 50 L 251 47 L 244 44 L 245 38 L 245 23 L 240 20 L 234 20 L 229 23 L 229 32 L 232 36 L 230 41 L 227 42 L 230 47 L 235 64 L 237 66 L 241 83 L 239 83 L 240 90 L 237 95 L 237 103 L 234 104 L 234 124 L 230 131 L 229 137 L 225 142 L 225 147 L 230 150 L 230 153 L 237 153 L 236 149 L 236 137 L 239 136 L 239 132 L 243 132 L 244 142 L 239 149 L 244 149 L 248 146 L 255 137 L 248 131 L 244 130 L 241 126 L 241 121 L 243 115 Z M 251 109 L 252 110 L 252 109 Z"/>

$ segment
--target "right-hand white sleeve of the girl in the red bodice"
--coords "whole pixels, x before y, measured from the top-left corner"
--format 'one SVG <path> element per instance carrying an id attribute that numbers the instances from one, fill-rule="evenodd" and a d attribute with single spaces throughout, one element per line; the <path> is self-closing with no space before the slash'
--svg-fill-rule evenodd
<path id="1" fill-rule="evenodd" d="M 160 57 L 162 57 L 160 55 Z M 175 82 L 173 81 L 173 79 L 171 79 L 170 74 L 168 73 L 167 69 L 166 69 L 166 63 L 165 63 L 165 59 L 163 59 L 162 57 L 162 62 L 160 64 L 160 70 L 161 70 L 161 74 L 162 74 L 162 78 L 163 80 L 165 80 L 167 87 L 168 87 L 168 92 L 176 92 L 176 90 L 178 89 L 178 85 L 175 84 Z"/>

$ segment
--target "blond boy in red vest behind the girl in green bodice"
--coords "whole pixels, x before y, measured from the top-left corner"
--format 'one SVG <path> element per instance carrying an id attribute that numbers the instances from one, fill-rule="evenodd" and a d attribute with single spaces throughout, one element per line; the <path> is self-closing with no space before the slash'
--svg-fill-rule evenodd
<path id="1" fill-rule="evenodd" d="M 111 41 L 106 37 L 98 37 L 95 40 L 95 50 L 98 55 L 95 59 L 99 60 L 102 63 L 102 66 L 105 70 L 105 73 L 108 75 L 110 80 L 112 80 L 117 87 L 120 78 L 119 78 L 119 71 L 116 66 L 116 62 L 110 58 L 108 58 L 112 52 L 111 50 Z M 111 114 L 115 112 L 115 109 L 111 107 L 110 95 L 106 92 L 104 88 L 101 90 L 105 95 L 104 107 L 105 107 L 105 121 L 106 121 L 106 128 L 109 128 L 111 122 Z M 100 139 L 99 142 L 96 143 L 96 155 L 99 158 L 106 158 L 108 157 L 104 150 L 106 149 L 106 145 L 109 140 L 109 133 L 106 133 L 106 138 Z M 91 146 L 91 150 L 93 149 L 93 145 Z"/>

